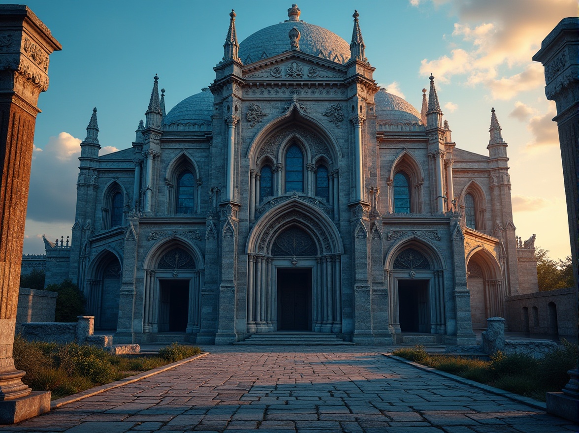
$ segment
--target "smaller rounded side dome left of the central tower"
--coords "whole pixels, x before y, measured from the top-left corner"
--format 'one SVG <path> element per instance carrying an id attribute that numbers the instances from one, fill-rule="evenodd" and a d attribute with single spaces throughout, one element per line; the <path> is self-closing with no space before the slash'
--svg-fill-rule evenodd
<path id="1" fill-rule="evenodd" d="M 213 115 L 213 94 L 204 87 L 171 109 L 163 118 L 165 131 L 210 131 Z"/>

